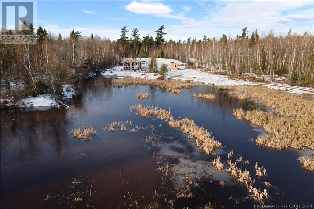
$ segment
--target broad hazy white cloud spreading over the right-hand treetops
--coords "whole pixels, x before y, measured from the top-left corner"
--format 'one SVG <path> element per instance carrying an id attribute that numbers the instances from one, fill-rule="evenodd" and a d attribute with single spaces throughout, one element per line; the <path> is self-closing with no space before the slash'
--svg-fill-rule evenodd
<path id="1" fill-rule="evenodd" d="M 200 39 L 203 35 L 219 38 L 224 33 L 235 37 L 241 29 L 248 27 L 250 33 L 257 29 L 260 34 L 274 30 L 276 34 L 286 34 L 290 28 L 298 33 L 314 32 L 313 4 L 309 1 L 229 1 L 219 5 L 202 2 L 205 17 L 186 19 L 181 24 L 165 28 L 166 39 Z M 311 9 L 301 10 L 304 5 Z"/>

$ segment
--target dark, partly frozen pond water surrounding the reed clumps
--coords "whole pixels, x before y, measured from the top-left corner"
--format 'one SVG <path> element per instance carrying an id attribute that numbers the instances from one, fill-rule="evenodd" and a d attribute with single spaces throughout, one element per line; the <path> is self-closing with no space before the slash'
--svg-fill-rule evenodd
<path id="1" fill-rule="evenodd" d="M 139 92 L 148 93 L 149 99 L 136 100 Z M 193 93 L 214 93 L 216 99 L 192 98 Z M 133 120 L 133 127 L 153 123 L 156 134 L 170 135 L 174 131 L 182 141 L 186 139 L 187 136 L 171 130 L 164 121 L 130 115 L 130 106 L 138 103 L 170 108 L 174 117 L 188 117 L 198 126 L 203 125 L 222 142 L 223 151 L 233 149 L 235 154 L 249 159 L 250 164 L 242 168 L 249 169 L 253 177 L 255 162 L 264 166 L 268 176 L 255 178 L 255 186 L 264 188 L 261 182 L 266 181 L 276 187 L 268 189 L 271 198 L 266 205 L 314 203 L 314 174 L 302 169 L 296 161 L 302 152 L 257 147 L 248 139 L 255 139 L 260 133 L 247 121 L 238 121 L 231 114 L 234 108 L 251 109 L 257 104 L 241 102 L 214 86 L 193 86 L 176 95 L 152 86 L 114 88 L 110 78 L 97 75 L 84 83 L 80 96 L 69 102 L 70 109 L 1 110 L 1 207 L 56 207 L 45 202 L 47 194 L 56 196 L 72 186 L 74 177 L 82 186 L 93 185 L 91 199 L 96 208 L 135 208 L 134 201 L 144 206 L 152 202 L 155 191 L 165 193 L 161 172 L 156 170 L 159 165 L 141 142 L 151 130 L 141 129 L 134 134 L 128 126 L 127 132 L 102 130 L 113 121 Z M 69 135 L 73 128 L 82 125 L 93 126 L 98 132 L 89 142 Z M 196 153 L 191 151 L 189 155 L 208 162 L 213 158 Z M 227 159 L 224 154 L 221 157 Z M 230 196 L 249 196 L 238 185 L 221 187 L 206 182 L 203 185 L 204 193 L 191 200 L 183 199 L 175 207 L 198 208 L 210 200 L 219 208 Z M 168 189 L 174 187 L 168 185 Z M 234 207 L 253 208 L 253 205 L 253 201 L 246 199 Z"/>

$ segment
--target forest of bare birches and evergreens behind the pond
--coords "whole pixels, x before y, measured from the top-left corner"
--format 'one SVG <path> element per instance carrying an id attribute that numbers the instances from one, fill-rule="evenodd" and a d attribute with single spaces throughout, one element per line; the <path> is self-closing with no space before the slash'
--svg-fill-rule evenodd
<path id="1" fill-rule="evenodd" d="M 154 31 L 155 37 L 141 36 L 137 28 L 130 32 L 124 26 L 119 39 L 109 40 L 93 34 L 82 36 L 74 30 L 62 37 L 41 26 L 35 30 L 26 25 L 36 44 L 1 44 L 4 98 L 16 100 L 38 94 L 60 97 L 62 84 L 79 90 L 90 72 L 117 66 L 126 57 L 170 58 L 186 63 L 186 68 L 206 72 L 236 77 L 243 73 L 283 75 L 290 85 L 314 85 L 314 36 L 298 35 L 292 29 L 284 36 L 273 31 L 260 35 L 257 29 L 250 32 L 245 27 L 236 38 L 222 34 L 220 38 L 204 35 L 202 39 L 165 40 L 164 25 Z"/>

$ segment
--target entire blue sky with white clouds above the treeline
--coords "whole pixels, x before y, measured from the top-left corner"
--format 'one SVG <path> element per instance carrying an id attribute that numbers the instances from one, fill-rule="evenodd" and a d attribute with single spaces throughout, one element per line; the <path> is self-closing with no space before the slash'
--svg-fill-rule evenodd
<path id="1" fill-rule="evenodd" d="M 167 40 L 203 35 L 235 37 L 241 29 L 270 30 L 277 35 L 314 32 L 313 1 L 37 1 L 37 25 L 68 36 L 74 29 L 83 35 L 119 38 L 120 28 L 137 27 L 143 35 L 165 25 Z"/>

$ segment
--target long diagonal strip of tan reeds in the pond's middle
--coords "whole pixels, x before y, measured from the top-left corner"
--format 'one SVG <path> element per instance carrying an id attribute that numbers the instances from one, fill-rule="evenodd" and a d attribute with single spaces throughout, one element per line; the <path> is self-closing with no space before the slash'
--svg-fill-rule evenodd
<path id="1" fill-rule="evenodd" d="M 199 127 L 193 120 L 184 118 L 182 120 L 174 120 L 170 110 L 164 110 L 154 106 L 142 106 L 138 104 L 131 106 L 131 110 L 136 110 L 136 115 L 143 117 L 156 116 L 157 119 L 167 121 L 172 128 L 180 128 L 183 133 L 189 134 L 188 138 L 195 138 L 195 144 L 201 147 L 205 154 L 214 152 L 215 148 L 221 148 L 221 142 L 214 140 L 212 133 L 204 129 L 203 126 Z"/>

